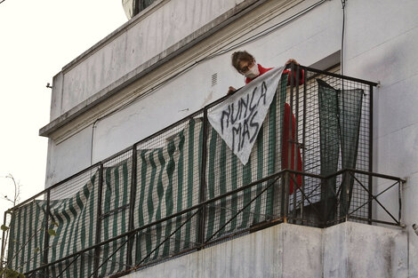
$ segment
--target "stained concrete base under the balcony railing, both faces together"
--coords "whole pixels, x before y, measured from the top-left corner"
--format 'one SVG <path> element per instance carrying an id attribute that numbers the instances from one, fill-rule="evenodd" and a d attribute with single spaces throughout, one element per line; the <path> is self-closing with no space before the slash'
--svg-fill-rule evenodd
<path id="1" fill-rule="evenodd" d="M 406 244 L 378 226 L 280 224 L 125 277 L 407 277 Z"/>

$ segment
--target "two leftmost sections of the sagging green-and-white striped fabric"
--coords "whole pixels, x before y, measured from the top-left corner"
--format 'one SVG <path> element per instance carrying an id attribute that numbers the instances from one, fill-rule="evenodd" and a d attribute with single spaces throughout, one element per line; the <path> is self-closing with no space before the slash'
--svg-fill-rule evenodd
<path id="1" fill-rule="evenodd" d="M 50 236 L 48 262 L 63 258 L 78 250 L 92 246 L 94 242 L 94 215 L 97 211 L 97 173 L 75 196 L 52 200 L 50 203 L 50 225 L 57 235 Z M 44 223 L 46 202 L 35 200 L 14 211 L 10 224 L 8 261 L 15 269 L 26 273 L 39 267 L 44 259 Z M 80 260 L 81 261 L 81 260 Z M 68 267 L 64 277 L 82 277 L 83 269 L 77 262 Z M 92 258 L 87 258 L 86 267 L 92 269 Z M 53 277 L 58 276 L 68 262 L 50 269 Z"/>

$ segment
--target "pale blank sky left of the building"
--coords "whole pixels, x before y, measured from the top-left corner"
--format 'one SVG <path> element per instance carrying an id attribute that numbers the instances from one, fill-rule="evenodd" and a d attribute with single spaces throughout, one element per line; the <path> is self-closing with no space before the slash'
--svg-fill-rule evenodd
<path id="1" fill-rule="evenodd" d="M 2 2 L 3 0 L 0 0 Z M 121 0 L 4 0 L 0 4 L 0 223 L 44 190 L 52 77 L 127 21 Z M 0 234 L 1 236 L 1 234 Z"/>

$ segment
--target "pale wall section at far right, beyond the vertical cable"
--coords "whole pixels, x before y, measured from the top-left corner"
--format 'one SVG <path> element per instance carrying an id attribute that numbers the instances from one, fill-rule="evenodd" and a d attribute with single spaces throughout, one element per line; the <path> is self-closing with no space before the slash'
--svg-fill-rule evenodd
<path id="1" fill-rule="evenodd" d="M 418 2 L 414 0 L 349 1 L 346 34 L 346 73 L 381 82 L 374 93 L 374 171 L 407 179 L 403 215 L 411 234 L 410 258 L 418 258 L 418 237 L 411 227 L 418 223 L 416 11 Z M 375 192 L 387 185 L 382 182 Z M 397 211 L 397 189 L 391 189 L 380 200 Z M 376 218 L 388 218 L 379 207 L 375 209 Z M 410 261 L 409 277 L 418 277 L 417 262 Z"/>

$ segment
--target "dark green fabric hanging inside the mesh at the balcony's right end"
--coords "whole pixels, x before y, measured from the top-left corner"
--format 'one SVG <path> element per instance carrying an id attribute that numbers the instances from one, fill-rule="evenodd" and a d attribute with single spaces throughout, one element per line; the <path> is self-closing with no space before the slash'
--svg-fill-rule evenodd
<path id="1" fill-rule="evenodd" d="M 317 82 L 321 175 L 333 174 L 338 170 L 339 163 L 342 169 L 355 169 L 364 90 L 338 90 L 323 80 L 317 79 Z M 350 208 L 354 178 L 344 172 L 340 190 L 337 190 L 336 182 L 336 177 L 327 179 L 322 187 L 326 220 L 334 218 L 337 206 L 335 193 L 341 192 L 341 216 L 347 214 Z"/>

